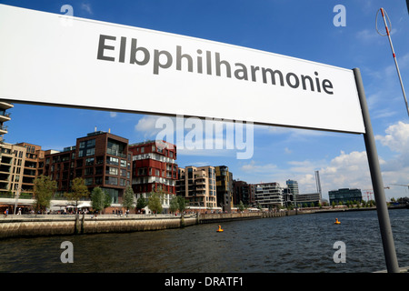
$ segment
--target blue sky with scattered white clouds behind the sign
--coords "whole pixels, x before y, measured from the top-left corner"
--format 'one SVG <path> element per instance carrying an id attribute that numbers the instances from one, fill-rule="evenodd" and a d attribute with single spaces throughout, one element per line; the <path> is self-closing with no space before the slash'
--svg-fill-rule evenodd
<path id="1" fill-rule="evenodd" d="M 281 55 L 352 69 L 363 75 L 387 198 L 409 196 L 409 117 L 388 39 L 375 30 L 384 7 L 404 85 L 409 88 L 409 15 L 404 0 L 134 0 L 0 1 L 55 14 L 71 5 L 74 15 L 242 45 Z M 333 24 L 335 5 L 344 5 L 346 25 Z M 381 18 L 378 27 L 384 30 Z M 409 90 L 409 89 L 408 89 Z M 195 102 L 195 101 L 193 101 Z M 260 104 L 260 106 L 263 106 Z M 155 139 L 158 116 L 52 106 L 20 105 L 10 110 L 8 143 L 28 142 L 44 149 L 74 146 L 75 139 L 98 130 L 129 139 Z M 348 118 L 348 116 L 345 116 Z M 237 159 L 237 150 L 180 150 L 179 166 L 229 166 L 249 183 L 294 179 L 302 193 L 316 190 L 319 170 L 323 196 L 342 187 L 370 189 L 364 137 L 322 131 L 254 126 L 254 155 Z"/>

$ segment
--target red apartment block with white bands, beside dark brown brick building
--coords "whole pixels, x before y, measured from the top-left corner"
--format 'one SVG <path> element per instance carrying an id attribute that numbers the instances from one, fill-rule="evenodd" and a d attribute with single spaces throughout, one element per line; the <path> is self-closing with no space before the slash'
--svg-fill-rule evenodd
<path id="1" fill-rule="evenodd" d="M 165 141 L 145 141 L 129 145 L 133 154 L 132 188 L 136 199 L 149 199 L 150 193 L 162 192 L 164 212 L 176 195 L 176 146 Z"/>

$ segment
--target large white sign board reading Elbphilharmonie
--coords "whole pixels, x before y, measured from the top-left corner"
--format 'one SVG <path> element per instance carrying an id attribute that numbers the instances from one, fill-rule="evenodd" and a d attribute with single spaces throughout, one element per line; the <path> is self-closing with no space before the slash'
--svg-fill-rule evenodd
<path id="1" fill-rule="evenodd" d="M 0 99 L 364 133 L 352 70 L 0 5 Z"/>

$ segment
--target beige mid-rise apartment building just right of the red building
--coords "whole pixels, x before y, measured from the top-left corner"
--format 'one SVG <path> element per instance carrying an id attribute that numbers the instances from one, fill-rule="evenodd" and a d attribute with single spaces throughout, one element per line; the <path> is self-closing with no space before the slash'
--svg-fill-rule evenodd
<path id="1" fill-rule="evenodd" d="M 218 207 L 214 166 L 179 168 L 176 193 L 185 196 L 191 207 L 202 209 Z"/>

